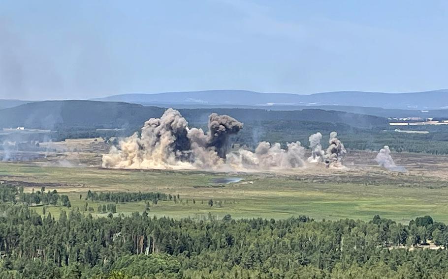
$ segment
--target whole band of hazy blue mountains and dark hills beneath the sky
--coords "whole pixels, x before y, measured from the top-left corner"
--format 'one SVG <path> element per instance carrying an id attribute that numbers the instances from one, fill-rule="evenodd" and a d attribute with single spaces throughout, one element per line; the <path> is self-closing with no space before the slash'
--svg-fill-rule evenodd
<path id="1" fill-rule="evenodd" d="M 189 121 L 200 123 L 206 123 L 211 112 L 229 114 L 241 121 L 338 122 L 362 128 L 383 126 L 387 117 L 448 117 L 448 109 L 444 109 L 448 106 L 448 90 L 312 95 L 211 90 L 122 94 L 97 100 L 0 100 L 0 127 L 136 128 L 151 117 L 160 117 L 168 107 L 179 109 Z"/>

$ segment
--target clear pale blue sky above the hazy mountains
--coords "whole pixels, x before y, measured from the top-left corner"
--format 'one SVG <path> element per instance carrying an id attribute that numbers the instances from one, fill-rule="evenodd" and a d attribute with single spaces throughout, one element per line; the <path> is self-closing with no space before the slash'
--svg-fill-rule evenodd
<path id="1" fill-rule="evenodd" d="M 448 88 L 444 0 L 0 0 L 0 98 Z"/>

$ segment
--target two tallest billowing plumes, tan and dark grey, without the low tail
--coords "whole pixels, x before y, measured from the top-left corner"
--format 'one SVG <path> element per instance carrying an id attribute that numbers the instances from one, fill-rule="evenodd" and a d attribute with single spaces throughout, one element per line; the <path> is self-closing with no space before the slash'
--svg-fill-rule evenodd
<path id="1" fill-rule="evenodd" d="M 103 156 L 103 167 L 124 168 L 195 168 L 224 163 L 228 137 L 243 124 L 227 115 L 210 115 L 205 134 L 202 129 L 188 128 L 180 112 L 168 109 L 160 118 L 145 122 L 141 136 L 137 133 L 120 141 Z"/>

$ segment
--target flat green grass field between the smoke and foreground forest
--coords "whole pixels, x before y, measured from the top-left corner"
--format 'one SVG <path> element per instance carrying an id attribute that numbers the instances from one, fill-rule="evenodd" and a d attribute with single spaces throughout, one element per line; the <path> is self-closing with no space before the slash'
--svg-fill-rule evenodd
<path id="1" fill-rule="evenodd" d="M 241 182 L 216 184 L 213 179 L 240 177 Z M 180 201 L 151 203 L 150 215 L 172 218 L 221 219 L 275 218 L 307 215 L 314 219 L 370 220 L 376 214 L 398 222 L 431 215 L 448 222 L 448 188 L 445 181 L 394 173 L 212 173 L 200 171 L 114 170 L 95 167 L 42 167 L 36 164 L 0 163 L 0 180 L 24 185 L 25 191 L 57 189 L 67 194 L 72 208 L 82 208 L 88 190 L 152 192 L 180 195 Z M 421 184 L 421 185 L 420 185 Z M 431 185 L 429 187 L 428 185 Z M 80 199 L 79 196 L 82 195 Z M 193 199 L 195 204 L 193 204 Z M 214 206 L 208 201 L 213 199 Z M 99 204 L 88 202 L 94 216 Z M 105 204 L 105 203 L 104 203 Z M 46 207 L 58 216 L 62 208 Z M 143 212 L 145 202 L 118 203 L 117 212 Z M 37 212 L 42 207 L 35 207 Z"/>

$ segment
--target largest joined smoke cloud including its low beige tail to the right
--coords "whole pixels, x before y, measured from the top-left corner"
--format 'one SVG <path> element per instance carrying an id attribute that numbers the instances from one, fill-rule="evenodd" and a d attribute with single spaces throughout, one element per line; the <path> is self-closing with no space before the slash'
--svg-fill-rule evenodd
<path id="1" fill-rule="evenodd" d="M 208 131 L 189 128 L 180 112 L 168 109 L 160 118 L 145 122 L 138 133 L 121 140 L 102 158 L 103 167 L 156 169 L 237 170 L 303 167 L 305 148 L 291 142 L 283 149 L 280 143 L 260 142 L 255 152 L 239 149 L 229 152 L 229 136 L 243 124 L 228 115 L 212 113 Z"/>

